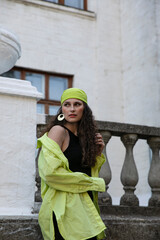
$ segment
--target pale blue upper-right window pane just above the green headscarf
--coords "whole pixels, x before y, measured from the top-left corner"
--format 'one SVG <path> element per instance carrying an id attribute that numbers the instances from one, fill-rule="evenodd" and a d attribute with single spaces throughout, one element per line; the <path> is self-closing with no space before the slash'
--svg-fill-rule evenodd
<path id="1" fill-rule="evenodd" d="M 68 78 L 50 76 L 49 99 L 60 101 L 63 91 L 67 88 L 68 88 Z"/>

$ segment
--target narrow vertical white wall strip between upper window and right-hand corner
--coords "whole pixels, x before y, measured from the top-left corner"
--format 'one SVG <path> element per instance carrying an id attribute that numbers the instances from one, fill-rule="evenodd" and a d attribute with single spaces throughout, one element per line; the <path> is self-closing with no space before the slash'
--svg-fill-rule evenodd
<path id="1" fill-rule="evenodd" d="M 91 4 L 92 1 L 89 1 Z M 123 121 L 119 0 L 96 1 L 96 118 Z M 96 103 L 95 102 L 95 103 Z M 94 108 L 94 106 L 93 106 Z"/>

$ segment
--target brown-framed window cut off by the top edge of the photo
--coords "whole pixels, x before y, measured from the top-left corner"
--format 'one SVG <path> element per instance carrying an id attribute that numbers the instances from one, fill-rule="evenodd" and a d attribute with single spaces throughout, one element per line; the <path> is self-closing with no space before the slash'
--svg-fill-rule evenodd
<path id="1" fill-rule="evenodd" d="M 87 0 L 43 0 L 46 2 L 53 2 L 73 8 L 87 10 Z"/>

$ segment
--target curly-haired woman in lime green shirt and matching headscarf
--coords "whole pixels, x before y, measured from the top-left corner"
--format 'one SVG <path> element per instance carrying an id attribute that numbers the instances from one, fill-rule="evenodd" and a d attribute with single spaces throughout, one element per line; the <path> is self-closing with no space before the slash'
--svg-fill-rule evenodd
<path id="1" fill-rule="evenodd" d="M 44 240 L 104 239 L 98 191 L 105 183 L 98 172 L 105 158 L 87 95 L 65 90 L 61 108 L 47 132 L 38 139 L 42 206 L 39 224 Z"/>

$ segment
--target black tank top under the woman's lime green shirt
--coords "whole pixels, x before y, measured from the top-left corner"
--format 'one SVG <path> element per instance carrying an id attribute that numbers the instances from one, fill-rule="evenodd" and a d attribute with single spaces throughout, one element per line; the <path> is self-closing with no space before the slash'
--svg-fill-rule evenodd
<path id="1" fill-rule="evenodd" d="M 91 176 L 91 168 L 82 166 L 82 148 L 78 136 L 72 133 L 68 128 L 64 127 L 69 133 L 69 145 L 63 152 L 69 161 L 69 168 L 72 172 L 83 172 Z"/>

